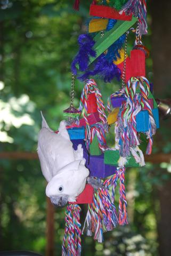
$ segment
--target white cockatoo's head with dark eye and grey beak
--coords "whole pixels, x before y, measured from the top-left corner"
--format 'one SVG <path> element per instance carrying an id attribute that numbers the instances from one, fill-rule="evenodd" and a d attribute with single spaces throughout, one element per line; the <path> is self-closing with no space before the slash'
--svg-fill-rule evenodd
<path id="1" fill-rule="evenodd" d="M 64 206 L 67 202 L 75 202 L 85 188 L 88 175 L 85 159 L 69 163 L 48 182 L 46 195 L 57 207 Z"/>

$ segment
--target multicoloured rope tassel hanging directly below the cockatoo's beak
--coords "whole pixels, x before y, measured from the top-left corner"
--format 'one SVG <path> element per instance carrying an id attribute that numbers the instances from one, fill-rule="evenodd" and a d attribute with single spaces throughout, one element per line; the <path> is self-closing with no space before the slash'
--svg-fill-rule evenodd
<path id="1" fill-rule="evenodd" d="M 66 210 L 66 227 L 62 243 L 62 256 L 80 256 L 81 255 L 81 225 L 80 225 L 80 206 L 78 204 L 69 204 Z M 66 244 L 67 247 L 66 247 Z"/>

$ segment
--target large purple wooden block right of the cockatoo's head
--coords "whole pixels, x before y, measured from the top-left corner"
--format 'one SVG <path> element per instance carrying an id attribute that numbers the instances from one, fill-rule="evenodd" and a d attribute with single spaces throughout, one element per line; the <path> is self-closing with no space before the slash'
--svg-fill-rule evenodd
<path id="1" fill-rule="evenodd" d="M 104 164 L 104 154 L 100 156 L 89 156 L 90 175 L 97 178 L 106 178 L 115 174 L 116 166 Z"/>

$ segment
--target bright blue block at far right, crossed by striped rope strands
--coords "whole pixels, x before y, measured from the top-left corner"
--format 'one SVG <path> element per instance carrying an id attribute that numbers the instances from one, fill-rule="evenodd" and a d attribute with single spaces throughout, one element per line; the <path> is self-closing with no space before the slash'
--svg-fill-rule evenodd
<path id="1" fill-rule="evenodd" d="M 157 129 L 159 128 L 159 110 L 158 108 L 152 109 L 154 121 L 156 122 Z M 136 130 L 137 132 L 147 132 L 149 130 L 149 113 L 148 110 L 141 110 L 136 115 Z"/>

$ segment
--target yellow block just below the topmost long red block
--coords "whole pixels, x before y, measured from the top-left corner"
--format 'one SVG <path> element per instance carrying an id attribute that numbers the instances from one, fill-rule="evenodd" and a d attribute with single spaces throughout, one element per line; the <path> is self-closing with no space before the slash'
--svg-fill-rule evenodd
<path id="1" fill-rule="evenodd" d="M 106 29 L 108 26 L 108 19 L 93 19 L 89 22 L 89 33 L 97 32 Z"/>

